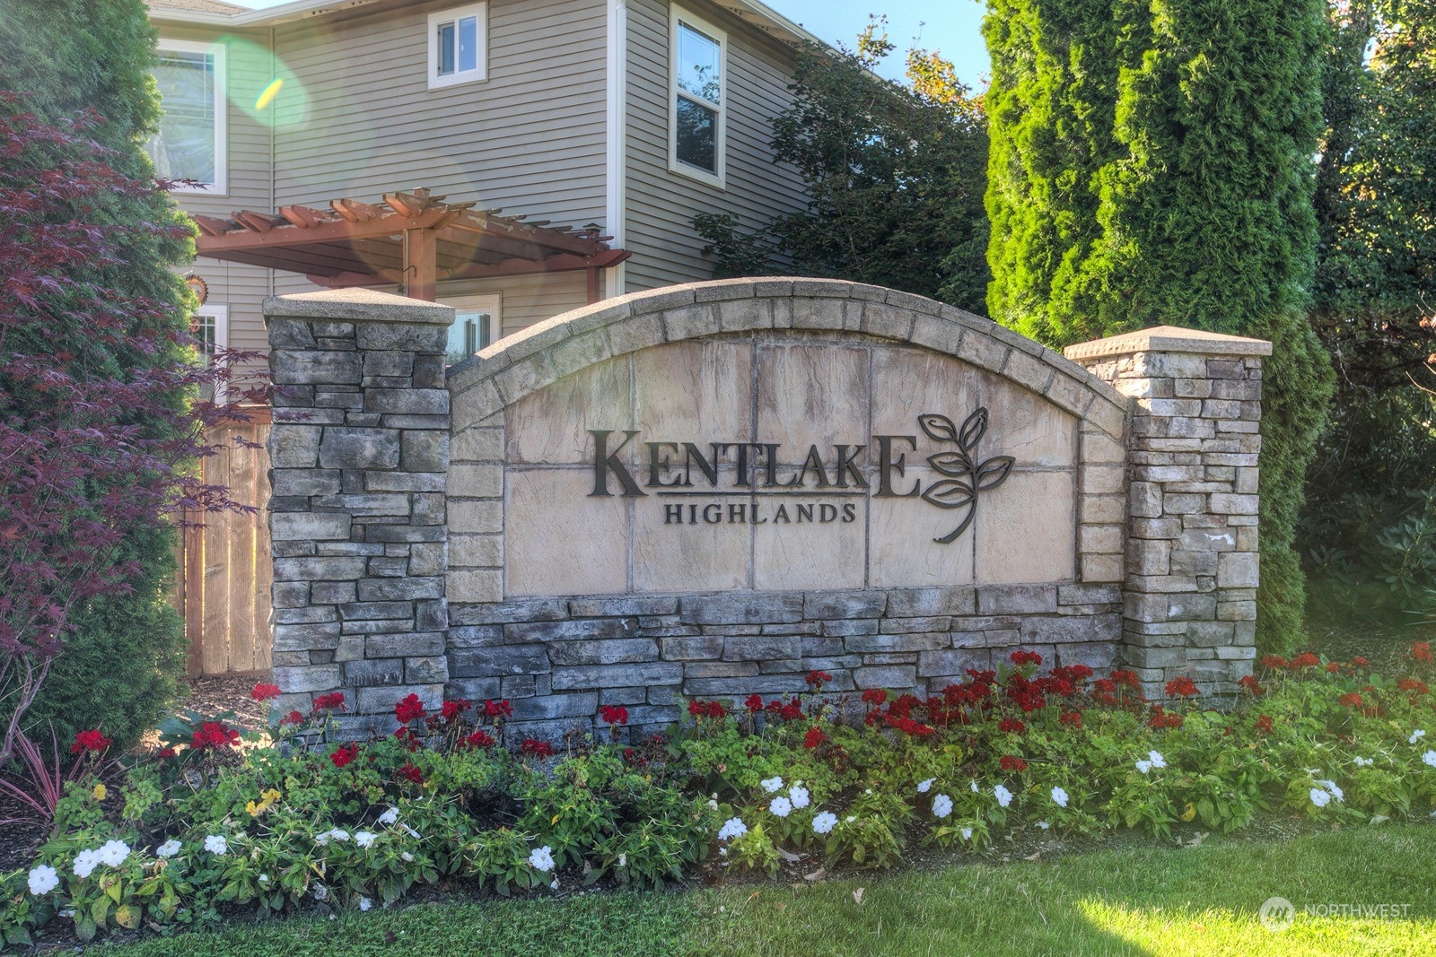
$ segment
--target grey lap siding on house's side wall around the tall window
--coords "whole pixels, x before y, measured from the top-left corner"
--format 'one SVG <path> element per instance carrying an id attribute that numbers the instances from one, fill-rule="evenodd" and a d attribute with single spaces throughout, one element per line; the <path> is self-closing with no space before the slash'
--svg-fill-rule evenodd
<path id="1" fill-rule="evenodd" d="M 698 212 L 728 212 L 748 230 L 803 209 L 803 181 L 774 162 L 773 116 L 791 102 L 793 53 L 727 13 L 695 7 L 728 33 L 727 189 L 668 169 L 669 20 L 662 0 L 629 3 L 628 232 L 629 291 L 712 277 L 692 227 Z"/>

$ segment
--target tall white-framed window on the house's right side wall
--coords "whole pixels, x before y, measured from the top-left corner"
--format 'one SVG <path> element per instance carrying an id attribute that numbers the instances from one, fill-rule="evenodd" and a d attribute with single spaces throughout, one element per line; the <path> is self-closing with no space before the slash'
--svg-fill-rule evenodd
<path id="1" fill-rule="evenodd" d="M 669 7 L 668 168 L 724 188 L 728 34 Z"/>

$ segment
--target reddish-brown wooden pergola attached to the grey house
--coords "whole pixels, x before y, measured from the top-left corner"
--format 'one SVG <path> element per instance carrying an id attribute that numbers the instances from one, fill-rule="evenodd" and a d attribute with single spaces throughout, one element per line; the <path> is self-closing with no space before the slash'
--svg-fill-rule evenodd
<path id="1" fill-rule="evenodd" d="M 599 270 L 626 260 L 596 227 L 553 227 L 501 217 L 474 202 L 445 202 L 428 189 L 385 194 L 382 202 L 332 199 L 329 209 L 240 209 L 230 220 L 194 215 L 200 255 L 303 273 L 329 287 L 396 286 L 432 303 L 441 280 L 587 271 L 589 301 Z"/>

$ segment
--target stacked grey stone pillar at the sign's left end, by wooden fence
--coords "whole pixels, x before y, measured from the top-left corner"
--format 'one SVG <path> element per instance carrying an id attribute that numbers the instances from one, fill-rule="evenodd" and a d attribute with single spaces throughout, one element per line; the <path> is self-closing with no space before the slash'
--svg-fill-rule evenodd
<path id="1" fill-rule="evenodd" d="M 348 733 L 448 680 L 445 485 L 454 310 L 368 290 L 264 301 L 273 677 L 283 712 L 340 690 Z"/>

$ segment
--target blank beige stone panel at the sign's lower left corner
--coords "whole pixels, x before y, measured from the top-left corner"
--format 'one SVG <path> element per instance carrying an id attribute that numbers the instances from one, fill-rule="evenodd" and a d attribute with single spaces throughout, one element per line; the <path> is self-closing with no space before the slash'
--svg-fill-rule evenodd
<path id="1" fill-rule="evenodd" d="M 510 471 L 504 583 L 510 595 L 593 595 L 628 588 L 628 505 L 592 498 L 586 469 Z"/>

